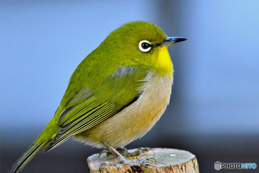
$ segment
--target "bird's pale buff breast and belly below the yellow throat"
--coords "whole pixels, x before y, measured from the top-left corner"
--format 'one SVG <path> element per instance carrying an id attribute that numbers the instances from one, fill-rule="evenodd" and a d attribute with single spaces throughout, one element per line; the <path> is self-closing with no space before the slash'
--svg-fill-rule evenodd
<path id="1" fill-rule="evenodd" d="M 114 148 L 125 146 L 144 136 L 160 119 L 166 109 L 172 87 L 172 76 L 150 72 L 143 93 L 130 106 L 75 136 L 75 140 L 102 148 L 101 140 Z"/>

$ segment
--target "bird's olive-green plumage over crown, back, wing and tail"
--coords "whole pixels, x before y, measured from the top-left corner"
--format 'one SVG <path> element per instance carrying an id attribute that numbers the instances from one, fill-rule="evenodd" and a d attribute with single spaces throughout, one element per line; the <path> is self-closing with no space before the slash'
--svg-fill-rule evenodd
<path id="1" fill-rule="evenodd" d="M 166 37 L 159 27 L 141 21 L 111 32 L 78 65 L 53 119 L 10 172 L 19 172 L 41 148 L 48 151 L 125 109 L 138 99 L 148 72 L 168 73 L 172 81 L 172 64 L 157 63 L 157 45 Z M 152 49 L 140 51 L 141 40 L 152 43 Z"/>

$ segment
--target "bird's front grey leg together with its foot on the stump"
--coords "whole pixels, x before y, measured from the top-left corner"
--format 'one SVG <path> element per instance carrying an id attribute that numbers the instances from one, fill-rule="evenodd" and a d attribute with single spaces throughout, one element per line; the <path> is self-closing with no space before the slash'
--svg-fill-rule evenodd
<path id="1" fill-rule="evenodd" d="M 150 158 L 143 158 L 143 159 L 138 159 L 135 161 L 130 161 L 128 159 L 126 159 L 124 156 L 122 156 L 116 149 L 114 149 L 108 142 L 102 140 L 101 141 L 105 147 L 107 147 L 111 153 L 116 156 L 119 160 L 120 160 L 120 164 L 126 164 L 126 165 L 132 165 L 132 164 L 150 164 L 149 159 Z M 102 167 L 103 165 L 116 165 L 116 162 L 105 162 L 103 164 L 100 165 L 100 167 Z"/>

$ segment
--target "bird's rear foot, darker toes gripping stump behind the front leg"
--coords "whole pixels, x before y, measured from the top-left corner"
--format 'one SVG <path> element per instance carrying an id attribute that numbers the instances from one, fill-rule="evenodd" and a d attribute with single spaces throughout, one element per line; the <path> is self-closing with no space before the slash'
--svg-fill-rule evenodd
<path id="1" fill-rule="evenodd" d="M 133 157 L 133 156 L 139 156 L 141 153 L 147 153 L 148 151 L 150 151 L 150 148 L 139 148 L 135 151 L 130 151 L 127 150 L 125 147 L 119 147 L 116 149 L 122 156 L 126 156 L 126 157 Z M 103 150 L 100 154 L 99 157 L 106 153 L 106 156 L 109 157 L 110 155 L 113 155 L 111 151 L 108 150 Z"/>

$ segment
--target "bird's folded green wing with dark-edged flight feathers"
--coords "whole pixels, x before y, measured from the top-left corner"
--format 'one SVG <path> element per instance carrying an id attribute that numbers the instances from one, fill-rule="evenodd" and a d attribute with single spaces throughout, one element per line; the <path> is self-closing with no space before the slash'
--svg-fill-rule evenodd
<path id="1" fill-rule="evenodd" d="M 59 115 L 60 129 L 45 152 L 136 101 L 145 76 L 145 70 L 119 66 L 97 85 L 95 81 L 95 85 L 88 85 L 74 94 Z"/>

